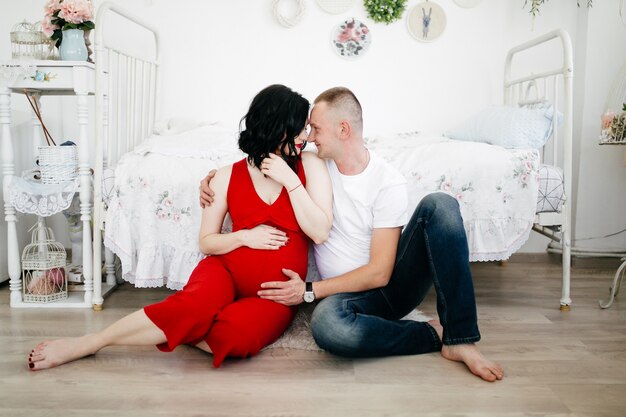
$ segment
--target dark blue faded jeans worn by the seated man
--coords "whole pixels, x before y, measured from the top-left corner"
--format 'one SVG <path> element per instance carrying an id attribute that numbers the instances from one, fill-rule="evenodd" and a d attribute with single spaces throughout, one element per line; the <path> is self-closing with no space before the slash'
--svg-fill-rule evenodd
<path id="1" fill-rule="evenodd" d="M 435 329 L 400 320 L 434 285 L 443 343 L 480 340 L 469 251 L 457 201 L 443 193 L 427 195 L 415 209 L 398 243 L 387 286 L 335 294 L 313 311 L 317 344 L 348 357 L 411 355 L 441 350 Z"/>

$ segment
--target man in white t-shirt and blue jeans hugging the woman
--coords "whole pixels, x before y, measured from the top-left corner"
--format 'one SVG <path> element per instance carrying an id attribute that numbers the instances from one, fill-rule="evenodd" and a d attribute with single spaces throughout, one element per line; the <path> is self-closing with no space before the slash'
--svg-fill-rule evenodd
<path id="1" fill-rule="evenodd" d="M 463 220 L 447 194 L 426 196 L 408 224 L 406 180 L 363 142 L 361 105 L 347 88 L 320 94 L 308 141 L 326 159 L 333 187 L 333 227 L 315 245 L 321 281 L 262 284 L 259 297 L 286 305 L 321 299 L 311 326 L 317 344 L 337 355 L 376 357 L 441 351 L 486 381 L 504 377 L 480 340 Z M 209 175 L 202 200 L 210 204 Z M 402 230 L 402 227 L 404 230 Z M 434 284 L 439 320 L 400 320 Z"/>

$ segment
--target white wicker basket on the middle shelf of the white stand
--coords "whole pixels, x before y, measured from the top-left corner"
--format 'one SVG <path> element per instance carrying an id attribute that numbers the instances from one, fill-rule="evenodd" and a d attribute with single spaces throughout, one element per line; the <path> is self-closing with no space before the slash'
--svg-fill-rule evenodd
<path id="1" fill-rule="evenodd" d="M 72 181 L 78 175 L 76 146 L 40 146 L 39 168 L 42 184 Z"/>

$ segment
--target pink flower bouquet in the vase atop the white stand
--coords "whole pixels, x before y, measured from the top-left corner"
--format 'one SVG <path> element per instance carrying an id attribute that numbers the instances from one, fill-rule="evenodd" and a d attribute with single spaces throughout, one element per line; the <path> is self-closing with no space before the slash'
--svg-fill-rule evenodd
<path id="1" fill-rule="evenodd" d="M 48 0 L 44 10 L 41 29 L 46 36 L 56 41 L 57 48 L 63 41 L 64 30 L 91 30 L 96 27 L 91 0 Z"/>

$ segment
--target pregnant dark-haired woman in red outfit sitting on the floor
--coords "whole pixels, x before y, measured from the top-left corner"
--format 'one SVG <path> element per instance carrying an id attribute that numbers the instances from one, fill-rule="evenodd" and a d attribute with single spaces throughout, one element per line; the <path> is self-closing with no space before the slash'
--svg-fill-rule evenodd
<path id="1" fill-rule="evenodd" d="M 309 239 L 321 243 L 332 224 L 332 189 L 325 163 L 306 144 L 309 103 L 282 85 L 259 92 L 242 119 L 239 148 L 247 158 L 220 169 L 215 201 L 204 208 L 199 246 L 211 255 L 187 285 L 104 330 L 42 342 L 31 370 L 52 368 L 112 345 L 188 344 L 226 357 L 248 357 L 278 339 L 296 307 L 257 296 L 260 284 L 306 276 Z M 232 233 L 221 233 L 227 213 Z"/>

